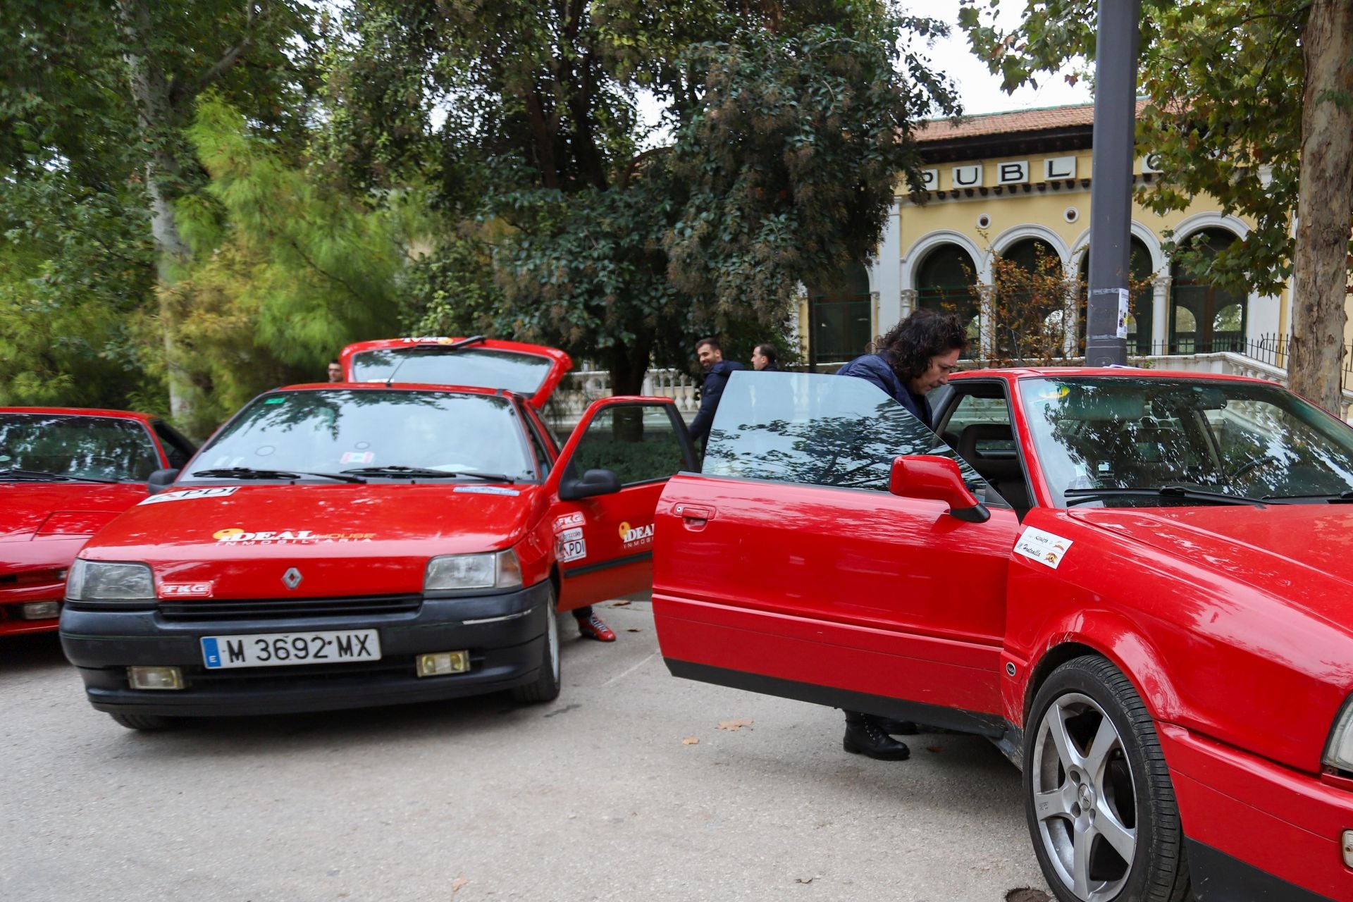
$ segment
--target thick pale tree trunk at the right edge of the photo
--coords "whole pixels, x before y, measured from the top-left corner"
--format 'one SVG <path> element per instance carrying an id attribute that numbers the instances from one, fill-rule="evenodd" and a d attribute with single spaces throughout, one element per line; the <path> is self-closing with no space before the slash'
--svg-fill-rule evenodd
<path id="1" fill-rule="evenodd" d="M 1339 366 L 1353 222 L 1353 0 L 1315 0 L 1302 51 L 1302 188 L 1288 372 L 1292 391 L 1342 414 Z M 1342 104 L 1335 101 L 1339 93 Z"/>

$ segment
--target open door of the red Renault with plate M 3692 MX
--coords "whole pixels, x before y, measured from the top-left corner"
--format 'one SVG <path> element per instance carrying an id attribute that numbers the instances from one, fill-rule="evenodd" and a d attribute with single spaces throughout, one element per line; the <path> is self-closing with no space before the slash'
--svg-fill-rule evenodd
<path id="1" fill-rule="evenodd" d="M 545 483 L 560 610 L 652 586 L 653 508 L 667 480 L 695 467 L 670 398 L 593 402 Z"/>

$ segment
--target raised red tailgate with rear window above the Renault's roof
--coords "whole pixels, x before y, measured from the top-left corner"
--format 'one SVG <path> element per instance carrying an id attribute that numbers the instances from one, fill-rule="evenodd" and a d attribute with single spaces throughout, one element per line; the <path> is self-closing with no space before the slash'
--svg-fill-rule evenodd
<path id="1" fill-rule="evenodd" d="M 545 406 L 574 361 L 557 348 L 472 338 L 386 338 L 348 345 L 340 357 L 350 383 L 421 383 L 503 388 Z"/>

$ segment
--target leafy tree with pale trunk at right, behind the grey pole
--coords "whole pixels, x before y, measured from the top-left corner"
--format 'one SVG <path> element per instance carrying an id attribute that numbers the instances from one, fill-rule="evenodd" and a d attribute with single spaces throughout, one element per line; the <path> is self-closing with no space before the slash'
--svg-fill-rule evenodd
<path id="1" fill-rule="evenodd" d="M 1093 0 L 1030 0 L 1008 32 L 977 0 L 962 3 L 974 53 L 1008 91 L 1095 55 Z M 1256 223 L 1210 261 L 1177 252 L 1233 289 L 1277 293 L 1295 275 L 1291 384 L 1337 410 L 1353 250 L 1353 0 L 1143 0 L 1142 11 L 1138 143 L 1160 154 L 1164 176 L 1139 197 L 1164 212 L 1207 193 Z"/>

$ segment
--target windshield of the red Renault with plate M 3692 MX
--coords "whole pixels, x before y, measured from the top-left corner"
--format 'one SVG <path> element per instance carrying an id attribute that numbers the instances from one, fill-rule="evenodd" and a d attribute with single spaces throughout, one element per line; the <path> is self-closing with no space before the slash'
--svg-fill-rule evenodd
<path id="1" fill-rule="evenodd" d="M 506 398 L 399 389 L 264 395 L 202 449 L 185 476 L 233 468 L 299 475 L 360 471 L 363 479 L 406 480 L 418 476 L 379 471 L 419 468 L 536 479 Z M 211 477 L 191 481 L 198 479 Z"/>

